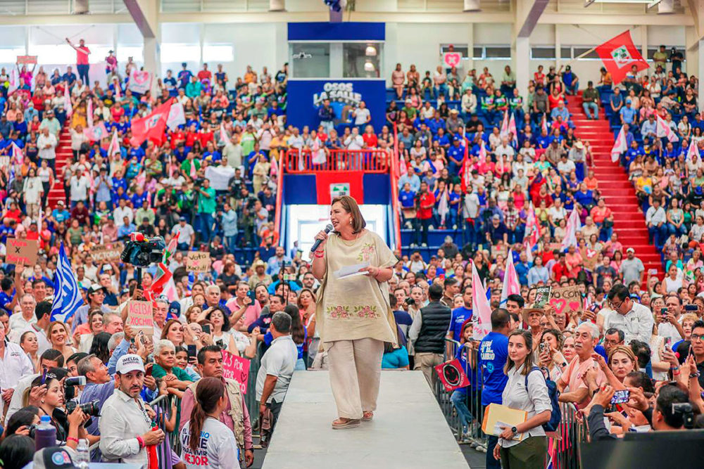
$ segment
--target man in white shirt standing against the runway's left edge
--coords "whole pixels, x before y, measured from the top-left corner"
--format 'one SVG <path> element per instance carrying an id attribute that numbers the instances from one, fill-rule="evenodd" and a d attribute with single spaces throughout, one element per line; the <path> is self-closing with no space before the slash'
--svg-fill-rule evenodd
<path id="1" fill-rule="evenodd" d="M 287 313 L 279 311 L 271 317 L 269 332 L 274 340 L 262 356 L 257 373 L 256 394 L 260 415 L 266 409 L 272 414 L 270 432 L 273 432 L 291 376 L 294 375 L 298 349 L 291 338 L 291 316 Z"/>

